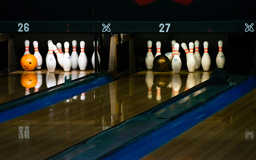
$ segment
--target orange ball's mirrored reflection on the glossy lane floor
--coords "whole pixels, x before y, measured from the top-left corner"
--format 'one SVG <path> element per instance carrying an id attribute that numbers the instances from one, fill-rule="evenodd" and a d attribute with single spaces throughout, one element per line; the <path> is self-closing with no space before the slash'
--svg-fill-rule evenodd
<path id="1" fill-rule="evenodd" d="M 20 77 L 20 83 L 23 87 L 32 88 L 37 84 L 37 76 L 34 72 L 24 72 Z"/>

